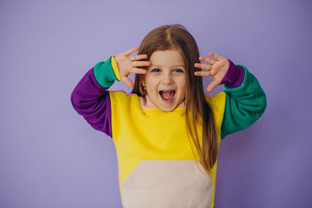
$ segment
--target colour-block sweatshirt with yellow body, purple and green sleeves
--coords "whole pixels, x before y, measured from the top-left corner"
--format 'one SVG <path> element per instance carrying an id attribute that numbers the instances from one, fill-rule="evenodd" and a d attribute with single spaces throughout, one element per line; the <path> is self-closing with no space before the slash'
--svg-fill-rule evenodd
<path id="1" fill-rule="evenodd" d="M 115 143 L 123 206 L 213 207 L 217 162 L 206 174 L 188 137 L 185 107 L 171 112 L 142 109 L 139 96 L 107 90 L 115 80 L 120 77 L 111 57 L 86 73 L 71 101 L 93 128 Z M 226 91 L 206 96 L 219 129 L 219 141 L 249 127 L 266 108 L 261 86 L 244 66 L 230 62 L 222 83 Z M 201 138 L 201 126 L 197 131 Z"/>

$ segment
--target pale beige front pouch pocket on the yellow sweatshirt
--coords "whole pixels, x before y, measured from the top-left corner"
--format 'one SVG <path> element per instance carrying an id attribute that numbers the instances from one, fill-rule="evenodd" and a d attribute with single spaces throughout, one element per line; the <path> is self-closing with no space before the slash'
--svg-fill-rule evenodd
<path id="1" fill-rule="evenodd" d="M 123 184 L 125 208 L 209 208 L 212 181 L 191 160 L 143 160 Z"/>

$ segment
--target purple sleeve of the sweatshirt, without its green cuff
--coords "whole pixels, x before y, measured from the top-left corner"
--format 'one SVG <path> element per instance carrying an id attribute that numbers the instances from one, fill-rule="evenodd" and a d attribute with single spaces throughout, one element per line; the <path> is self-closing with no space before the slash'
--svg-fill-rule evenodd
<path id="1" fill-rule="evenodd" d="M 97 82 L 92 68 L 75 87 L 71 103 L 93 128 L 112 137 L 111 101 L 107 89 Z"/>

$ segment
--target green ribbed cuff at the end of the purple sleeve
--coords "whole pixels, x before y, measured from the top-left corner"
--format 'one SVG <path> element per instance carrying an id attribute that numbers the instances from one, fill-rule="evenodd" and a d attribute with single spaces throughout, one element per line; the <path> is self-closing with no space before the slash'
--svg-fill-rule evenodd
<path id="1" fill-rule="evenodd" d="M 114 73 L 111 60 L 112 57 L 105 62 L 99 62 L 93 69 L 96 80 L 104 88 L 111 87 L 115 80 L 119 81 Z"/>

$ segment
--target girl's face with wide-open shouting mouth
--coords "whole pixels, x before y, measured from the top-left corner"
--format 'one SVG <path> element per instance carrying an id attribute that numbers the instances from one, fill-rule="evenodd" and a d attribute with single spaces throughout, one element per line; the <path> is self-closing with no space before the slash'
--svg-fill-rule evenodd
<path id="1" fill-rule="evenodd" d="M 185 100 L 186 67 L 176 50 L 156 51 L 150 56 L 151 66 L 143 81 L 147 94 L 162 111 L 183 106 Z"/>

